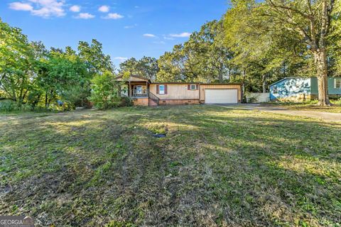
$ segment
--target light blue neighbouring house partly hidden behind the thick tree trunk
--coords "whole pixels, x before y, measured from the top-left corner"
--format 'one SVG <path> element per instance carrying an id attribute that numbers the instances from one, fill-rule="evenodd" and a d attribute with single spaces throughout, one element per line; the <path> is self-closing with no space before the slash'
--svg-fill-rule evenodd
<path id="1" fill-rule="evenodd" d="M 341 77 L 328 78 L 328 94 L 341 96 Z M 317 77 L 286 77 L 270 85 L 270 100 L 302 101 L 318 99 Z"/>

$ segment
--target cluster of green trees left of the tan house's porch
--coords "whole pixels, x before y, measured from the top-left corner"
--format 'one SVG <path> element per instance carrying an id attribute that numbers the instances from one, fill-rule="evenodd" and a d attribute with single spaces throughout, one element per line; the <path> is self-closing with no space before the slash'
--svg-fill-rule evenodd
<path id="1" fill-rule="evenodd" d="M 20 107 L 30 104 L 49 109 L 59 103 L 87 106 L 92 79 L 116 76 L 109 55 L 97 40 L 81 41 L 77 50 L 66 47 L 46 50 L 41 42 L 29 42 L 21 29 L 0 20 L 0 98 Z"/>

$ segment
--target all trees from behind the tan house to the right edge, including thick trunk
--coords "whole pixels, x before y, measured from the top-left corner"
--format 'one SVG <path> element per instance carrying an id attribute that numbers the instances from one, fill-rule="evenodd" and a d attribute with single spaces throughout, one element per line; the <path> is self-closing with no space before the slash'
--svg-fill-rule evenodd
<path id="1" fill-rule="evenodd" d="M 341 74 L 340 0 L 234 0 L 158 60 L 158 81 L 241 82 L 266 92 L 283 77 L 318 77 L 319 103 L 330 104 L 328 76 Z"/>

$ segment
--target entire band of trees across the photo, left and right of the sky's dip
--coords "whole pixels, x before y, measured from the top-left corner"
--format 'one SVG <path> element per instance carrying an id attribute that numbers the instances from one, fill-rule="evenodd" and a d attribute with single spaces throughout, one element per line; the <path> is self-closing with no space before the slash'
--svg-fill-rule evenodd
<path id="1" fill-rule="evenodd" d="M 33 108 L 58 100 L 86 106 L 94 82 L 106 82 L 102 75 L 239 82 L 244 92 L 267 92 L 283 77 L 318 77 L 319 104 L 328 105 L 327 78 L 341 74 L 340 1 L 232 0 L 220 20 L 207 21 L 185 43 L 158 59 L 131 57 L 119 70 L 97 40 L 47 50 L 0 20 L 0 95 Z"/>

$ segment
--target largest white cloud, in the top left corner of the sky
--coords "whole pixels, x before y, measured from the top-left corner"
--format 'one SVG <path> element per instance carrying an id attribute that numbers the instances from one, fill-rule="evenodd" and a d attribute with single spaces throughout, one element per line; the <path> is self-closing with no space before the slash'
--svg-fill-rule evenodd
<path id="1" fill-rule="evenodd" d="M 64 0 L 28 0 L 29 2 L 13 2 L 10 9 L 30 11 L 34 16 L 49 18 L 51 16 L 65 16 Z"/>

